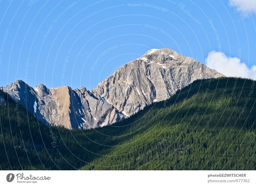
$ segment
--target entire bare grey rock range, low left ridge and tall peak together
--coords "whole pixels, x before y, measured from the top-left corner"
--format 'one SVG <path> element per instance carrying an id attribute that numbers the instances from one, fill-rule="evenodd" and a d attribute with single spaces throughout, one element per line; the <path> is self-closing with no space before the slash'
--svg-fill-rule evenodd
<path id="1" fill-rule="evenodd" d="M 92 91 L 84 87 L 48 89 L 43 84 L 33 89 L 21 80 L 3 91 L 45 123 L 85 129 L 120 121 L 153 102 L 168 99 L 195 80 L 221 76 L 173 50 L 152 49 L 119 68 Z"/>

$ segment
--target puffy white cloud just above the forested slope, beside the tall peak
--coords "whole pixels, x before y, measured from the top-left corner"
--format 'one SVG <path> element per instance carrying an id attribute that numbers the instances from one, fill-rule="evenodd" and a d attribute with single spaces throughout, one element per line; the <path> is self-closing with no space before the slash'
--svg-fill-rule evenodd
<path id="1" fill-rule="evenodd" d="M 239 58 L 228 57 L 220 51 L 209 52 L 205 59 L 205 65 L 225 76 L 256 79 L 256 65 L 249 68 Z"/>

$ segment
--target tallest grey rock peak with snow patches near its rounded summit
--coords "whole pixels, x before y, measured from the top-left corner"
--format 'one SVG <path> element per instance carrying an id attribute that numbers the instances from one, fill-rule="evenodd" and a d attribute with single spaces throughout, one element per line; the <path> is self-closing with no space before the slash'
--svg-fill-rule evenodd
<path id="1" fill-rule="evenodd" d="M 130 116 L 145 106 L 168 99 L 198 79 L 224 76 L 170 49 L 152 49 L 119 68 L 92 89 Z"/>

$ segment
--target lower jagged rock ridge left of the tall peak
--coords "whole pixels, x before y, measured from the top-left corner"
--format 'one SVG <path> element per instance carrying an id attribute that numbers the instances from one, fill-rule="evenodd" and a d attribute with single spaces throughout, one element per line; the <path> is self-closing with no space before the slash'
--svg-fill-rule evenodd
<path id="1" fill-rule="evenodd" d="M 124 114 L 113 105 L 84 87 L 75 90 L 68 86 L 48 89 L 39 84 L 33 89 L 24 81 L 17 80 L 4 87 L 3 91 L 39 120 L 56 126 L 95 128 L 124 118 Z"/>

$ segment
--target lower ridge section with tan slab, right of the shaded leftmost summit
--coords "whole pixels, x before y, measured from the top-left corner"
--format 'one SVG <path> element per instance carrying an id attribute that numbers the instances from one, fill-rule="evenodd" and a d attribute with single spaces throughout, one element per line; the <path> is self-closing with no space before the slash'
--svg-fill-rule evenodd
<path id="1" fill-rule="evenodd" d="M 48 123 L 66 128 L 95 128 L 122 120 L 124 115 L 84 87 L 47 89 L 36 86 L 38 109 Z"/>

